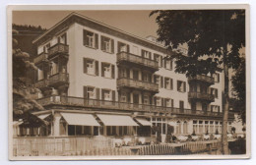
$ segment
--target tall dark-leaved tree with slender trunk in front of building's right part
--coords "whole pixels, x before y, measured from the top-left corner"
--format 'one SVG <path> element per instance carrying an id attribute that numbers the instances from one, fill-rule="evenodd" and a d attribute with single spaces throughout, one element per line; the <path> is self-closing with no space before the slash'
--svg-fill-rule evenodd
<path id="1" fill-rule="evenodd" d="M 175 72 L 196 76 L 214 74 L 218 68 L 224 69 L 224 116 L 223 153 L 228 153 L 228 69 L 236 70 L 241 58 L 239 49 L 245 46 L 244 10 L 173 10 L 153 11 L 158 15 L 158 40 L 164 42 L 168 50 L 178 50 L 187 45 L 187 55 L 176 51 Z"/>

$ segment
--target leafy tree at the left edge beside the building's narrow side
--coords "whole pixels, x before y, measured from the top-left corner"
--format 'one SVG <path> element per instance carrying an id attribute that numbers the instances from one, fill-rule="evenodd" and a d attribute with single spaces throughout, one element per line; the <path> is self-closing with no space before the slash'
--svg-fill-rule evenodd
<path id="1" fill-rule="evenodd" d="M 27 72 L 36 70 L 36 67 L 29 60 L 30 55 L 19 48 L 15 34 L 18 31 L 13 29 L 13 118 L 32 119 L 36 122 L 37 119 L 32 117 L 31 111 L 42 110 L 43 107 L 32 98 L 32 93 L 36 93 L 37 89 L 26 83 L 29 79 Z"/>

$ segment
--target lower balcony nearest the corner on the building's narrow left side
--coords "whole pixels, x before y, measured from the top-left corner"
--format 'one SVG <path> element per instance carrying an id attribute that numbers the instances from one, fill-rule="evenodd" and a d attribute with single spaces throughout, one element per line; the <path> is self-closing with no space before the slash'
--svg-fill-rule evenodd
<path id="1" fill-rule="evenodd" d="M 69 83 L 69 75 L 66 73 L 57 73 L 50 76 L 48 84 L 49 86 L 58 86 Z"/>

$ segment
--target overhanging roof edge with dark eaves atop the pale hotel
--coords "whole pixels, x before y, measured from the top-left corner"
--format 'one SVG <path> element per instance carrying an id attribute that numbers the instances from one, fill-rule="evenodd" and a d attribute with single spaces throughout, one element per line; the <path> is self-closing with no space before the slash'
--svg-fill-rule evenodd
<path id="1" fill-rule="evenodd" d="M 166 48 L 162 45 L 160 45 L 159 43 L 150 41 L 146 38 L 134 35 L 132 33 L 126 32 L 122 29 L 116 28 L 116 27 L 111 27 L 108 26 L 106 24 L 97 22 L 96 20 L 93 20 L 89 17 L 80 15 L 78 13 L 71 13 L 70 15 L 68 15 L 67 17 L 65 17 L 63 20 L 61 20 L 59 23 L 57 23 L 55 26 L 50 27 L 48 30 L 46 30 L 45 32 L 43 32 L 41 35 L 39 35 L 38 37 L 36 37 L 32 43 L 33 44 L 40 44 L 42 42 L 44 42 L 45 40 L 51 38 L 54 34 L 58 33 L 59 31 L 61 31 L 62 29 L 69 27 L 70 25 L 74 24 L 74 23 L 78 23 L 81 24 L 83 26 L 86 27 L 96 27 L 96 30 L 101 30 L 105 33 L 110 33 L 110 34 L 114 34 L 117 37 L 121 37 L 124 38 L 126 40 L 129 40 L 131 42 L 137 42 L 137 44 L 142 44 L 146 47 L 152 48 L 152 49 L 156 49 L 159 51 L 164 51 L 164 53 L 166 53 Z"/>

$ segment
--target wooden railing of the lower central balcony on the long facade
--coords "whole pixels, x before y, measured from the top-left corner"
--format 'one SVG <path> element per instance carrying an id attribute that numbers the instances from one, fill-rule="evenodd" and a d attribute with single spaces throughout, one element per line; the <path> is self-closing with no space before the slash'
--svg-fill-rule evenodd
<path id="1" fill-rule="evenodd" d="M 136 81 L 136 80 L 127 79 L 127 78 L 118 79 L 117 86 L 118 87 L 133 87 L 133 88 L 139 88 L 139 89 L 159 92 L 159 84 L 158 83 Z"/>

